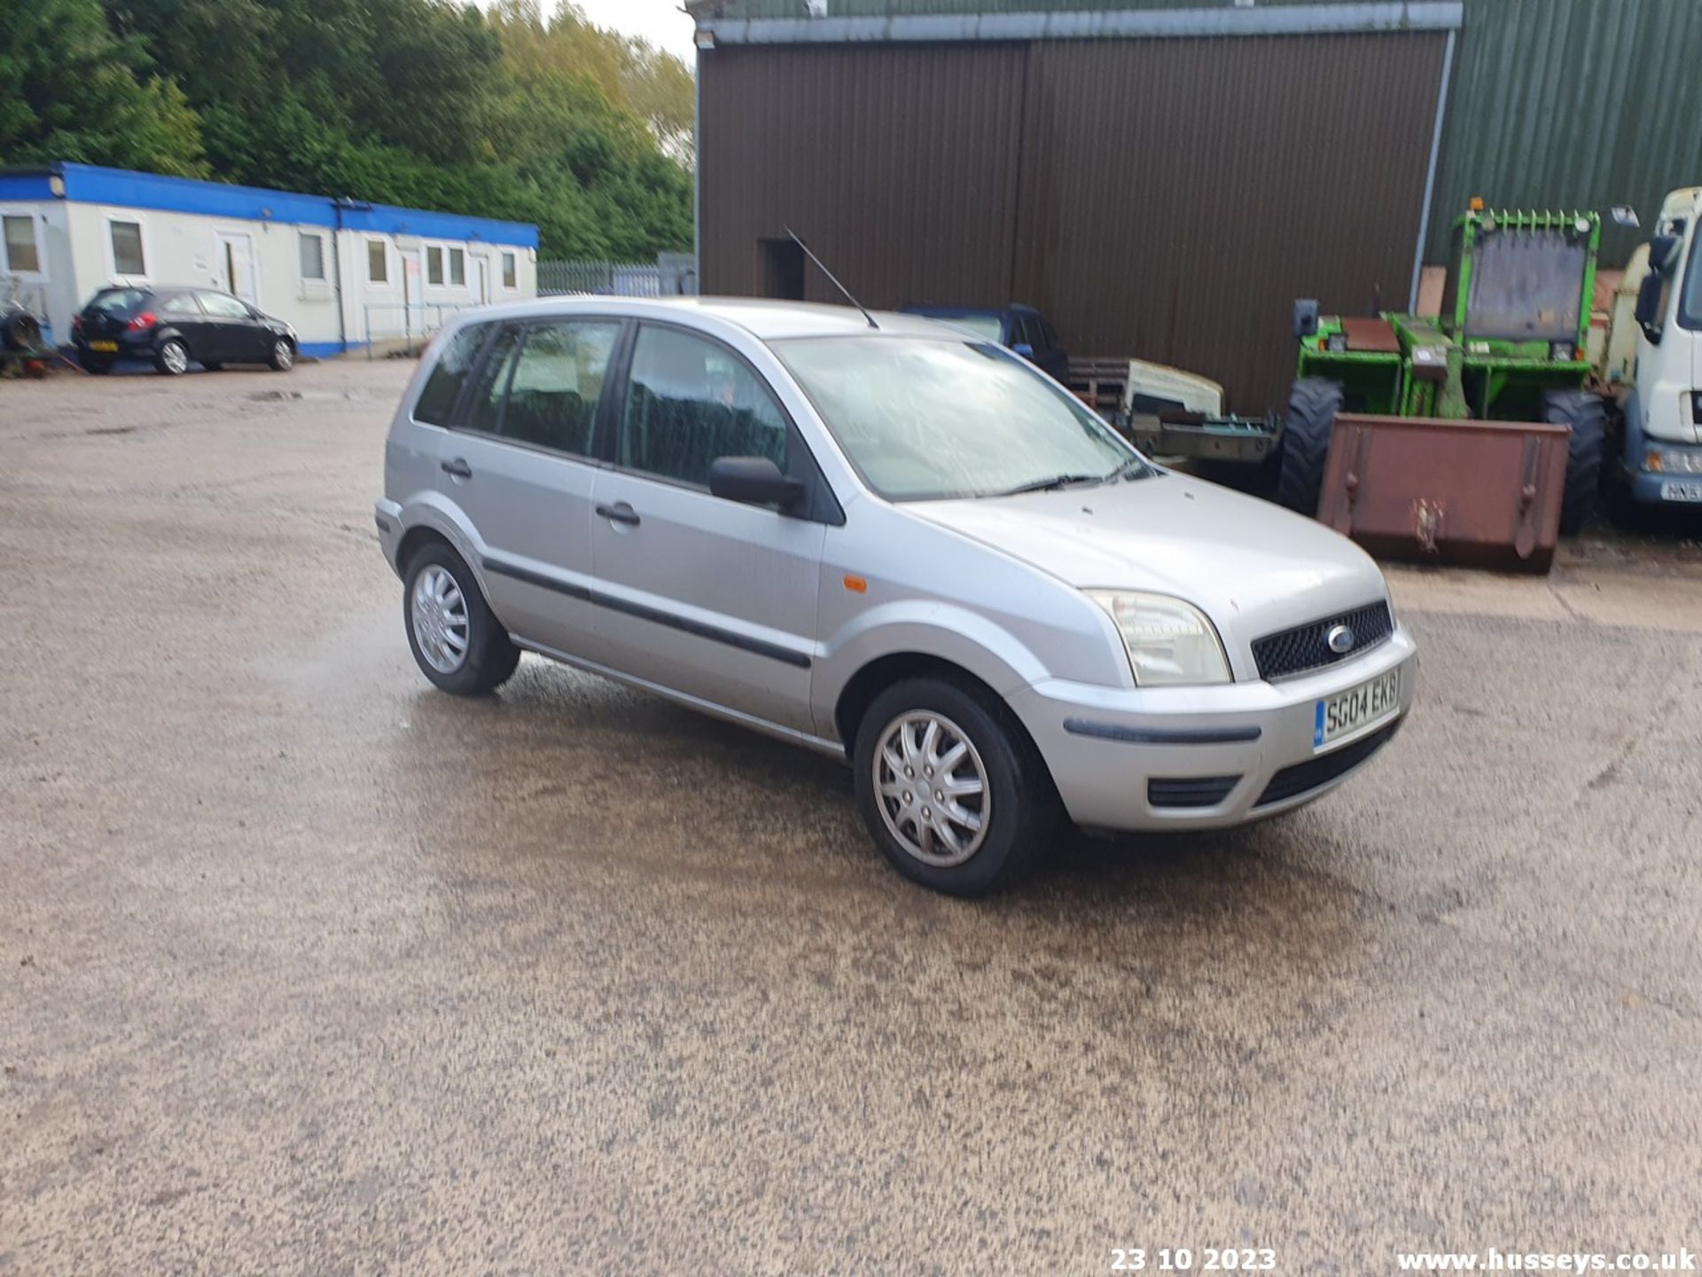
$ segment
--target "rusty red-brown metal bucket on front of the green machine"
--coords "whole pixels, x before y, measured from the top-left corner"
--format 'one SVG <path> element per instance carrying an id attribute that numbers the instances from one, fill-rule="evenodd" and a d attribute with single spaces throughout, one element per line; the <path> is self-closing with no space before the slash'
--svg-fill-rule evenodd
<path id="1" fill-rule="evenodd" d="M 1547 572 L 1566 426 L 1343 412 L 1317 518 L 1375 555 Z"/>

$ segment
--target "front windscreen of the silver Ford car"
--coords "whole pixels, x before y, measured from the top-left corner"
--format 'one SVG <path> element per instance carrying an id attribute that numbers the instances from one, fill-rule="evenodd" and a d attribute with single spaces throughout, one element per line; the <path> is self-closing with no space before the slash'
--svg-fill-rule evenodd
<path id="1" fill-rule="evenodd" d="M 810 337 L 773 349 L 888 501 L 1147 473 L 1110 426 L 992 342 Z"/>

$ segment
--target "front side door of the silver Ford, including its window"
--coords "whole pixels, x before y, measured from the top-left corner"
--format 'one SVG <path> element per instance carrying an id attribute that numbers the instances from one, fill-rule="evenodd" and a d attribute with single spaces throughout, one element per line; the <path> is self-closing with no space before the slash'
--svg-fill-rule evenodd
<path id="1" fill-rule="evenodd" d="M 810 664 L 820 523 L 710 495 L 710 461 L 802 443 L 757 373 L 698 334 L 643 324 L 616 468 L 597 477 L 601 647 L 625 674 L 815 732 Z M 790 472 L 790 470 L 788 470 Z"/>

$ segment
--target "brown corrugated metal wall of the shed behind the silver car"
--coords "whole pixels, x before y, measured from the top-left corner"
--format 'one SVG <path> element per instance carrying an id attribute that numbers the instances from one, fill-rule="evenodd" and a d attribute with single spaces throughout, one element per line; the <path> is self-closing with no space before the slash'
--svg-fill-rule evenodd
<path id="1" fill-rule="evenodd" d="M 1402 306 L 1442 34 L 728 48 L 700 60 L 703 288 L 791 225 L 871 306 L 1030 301 L 1278 407 L 1295 296 Z M 812 300 L 837 300 L 808 272 Z"/>

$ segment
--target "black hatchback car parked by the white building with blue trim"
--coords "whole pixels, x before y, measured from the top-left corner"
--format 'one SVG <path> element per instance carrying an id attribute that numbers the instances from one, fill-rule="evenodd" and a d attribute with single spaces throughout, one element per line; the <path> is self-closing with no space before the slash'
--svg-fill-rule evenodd
<path id="1" fill-rule="evenodd" d="M 71 320 L 77 359 L 109 373 L 124 359 L 146 359 L 168 376 L 221 364 L 296 363 L 296 330 L 242 298 L 214 288 L 102 288 Z"/>

